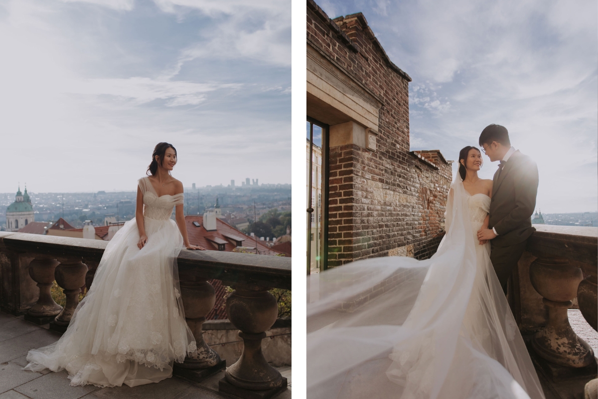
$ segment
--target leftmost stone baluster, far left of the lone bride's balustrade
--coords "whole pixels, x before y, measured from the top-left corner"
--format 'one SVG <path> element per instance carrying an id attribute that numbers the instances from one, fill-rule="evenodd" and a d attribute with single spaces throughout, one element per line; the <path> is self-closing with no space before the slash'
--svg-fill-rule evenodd
<path id="1" fill-rule="evenodd" d="M 39 298 L 28 310 L 25 319 L 36 324 L 46 324 L 62 311 L 62 306 L 54 302 L 50 288 L 54 282 L 54 270 L 59 262 L 47 257 L 36 257 L 29 263 L 29 276 L 39 287 Z"/>

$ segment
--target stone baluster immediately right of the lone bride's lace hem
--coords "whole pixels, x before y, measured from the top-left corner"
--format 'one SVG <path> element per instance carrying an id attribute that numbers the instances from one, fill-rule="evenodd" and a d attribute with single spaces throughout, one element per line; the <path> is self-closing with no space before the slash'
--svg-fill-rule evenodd
<path id="1" fill-rule="evenodd" d="M 181 300 L 185 319 L 196 341 L 197 357 L 186 357 L 184 363 L 175 363 L 175 374 L 200 381 L 226 367 L 226 361 L 203 340 L 202 324 L 213 309 L 216 294 L 205 278 L 181 276 Z"/>

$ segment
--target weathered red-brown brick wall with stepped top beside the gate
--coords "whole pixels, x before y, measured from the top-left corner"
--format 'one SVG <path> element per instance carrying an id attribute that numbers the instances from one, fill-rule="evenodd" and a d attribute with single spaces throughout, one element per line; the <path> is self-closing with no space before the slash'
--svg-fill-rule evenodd
<path id="1" fill-rule="evenodd" d="M 329 148 L 329 266 L 405 245 L 416 258 L 430 257 L 444 235 L 451 166 L 437 150 L 410 152 L 410 78 L 390 62 L 361 13 L 332 22 L 308 0 L 307 42 L 383 102 L 376 151 Z"/>

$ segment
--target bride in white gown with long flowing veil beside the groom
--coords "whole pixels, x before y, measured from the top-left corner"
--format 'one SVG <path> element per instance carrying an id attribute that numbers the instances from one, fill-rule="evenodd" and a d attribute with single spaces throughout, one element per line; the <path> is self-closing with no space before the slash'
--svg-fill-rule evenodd
<path id="1" fill-rule="evenodd" d="M 477 148 L 461 152 L 430 259 L 373 258 L 310 276 L 309 399 L 544 399 L 490 243 L 476 237 L 492 181 L 477 176 Z"/>

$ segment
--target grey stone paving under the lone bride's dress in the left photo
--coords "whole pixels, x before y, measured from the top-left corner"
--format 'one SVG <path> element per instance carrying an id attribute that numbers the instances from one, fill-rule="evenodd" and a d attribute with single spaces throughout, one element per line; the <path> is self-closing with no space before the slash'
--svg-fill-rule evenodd
<path id="1" fill-rule="evenodd" d="M 44 328 L 46 327 L 46 328 Z M 229 398 L 218 392 L 218 380 L 224 372 L 218 373 L 202 383 L 171 377 L 158 383 L 130 388 L 123 385 L 115 388 L 98 388 L 94 385 L 70 386 L 66 370 L 53 373 L 43 370 L 39 373 L 21 370 L 27 364 L 29 349 L 50 345 L 60 334 L 0 312 L 0 399 L 191 399 Z M 289 389 L 276 399 L 291 398 L 291 367 L 278 368 L 289 382 Z"/>

